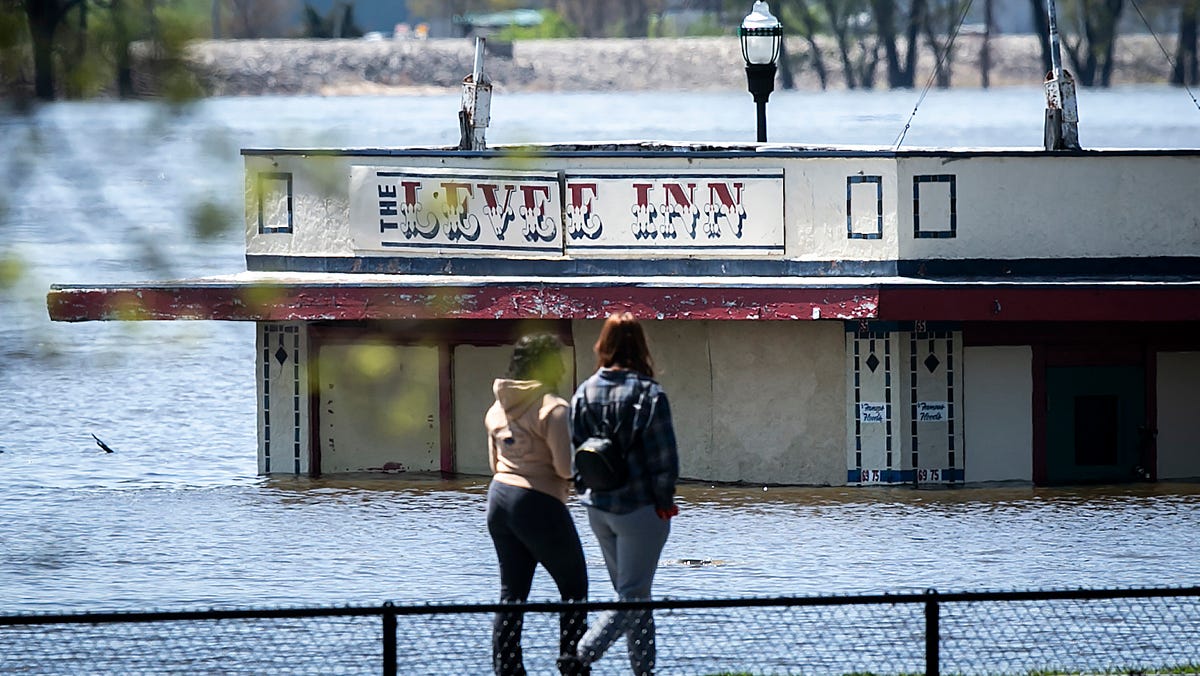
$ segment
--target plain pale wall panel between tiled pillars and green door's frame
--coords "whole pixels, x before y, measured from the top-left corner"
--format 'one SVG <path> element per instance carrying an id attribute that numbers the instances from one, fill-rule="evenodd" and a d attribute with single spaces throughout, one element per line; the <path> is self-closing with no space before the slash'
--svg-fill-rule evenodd
<path id="1" fill-rule="evenodd" d="M 967 347 L 962 352 L 966 480 L 1032 481 L 1032 348 Z"/>

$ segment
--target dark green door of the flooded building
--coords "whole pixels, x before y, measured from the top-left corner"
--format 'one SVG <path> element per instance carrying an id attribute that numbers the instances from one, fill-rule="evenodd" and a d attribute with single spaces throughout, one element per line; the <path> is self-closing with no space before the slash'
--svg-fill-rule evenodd
<path id="1" fill-rule="evenodd" d="M 1046 367 L 1046 483 L 1136 479 L 1145 387 L 1140 366 Z"/>

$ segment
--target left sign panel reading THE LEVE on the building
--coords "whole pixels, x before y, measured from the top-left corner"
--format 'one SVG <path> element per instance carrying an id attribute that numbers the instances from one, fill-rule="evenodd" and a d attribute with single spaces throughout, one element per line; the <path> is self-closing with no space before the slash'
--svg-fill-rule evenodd
<path id="1" fill-rule="evenodd" d="M 556 172 L 350 168 L 355 251 L 563 253 Z"/>

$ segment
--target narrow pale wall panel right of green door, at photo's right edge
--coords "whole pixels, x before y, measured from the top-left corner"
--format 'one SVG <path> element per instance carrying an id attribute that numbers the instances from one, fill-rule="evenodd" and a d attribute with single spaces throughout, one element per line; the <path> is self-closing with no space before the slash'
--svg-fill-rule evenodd
<path id="1" fill-rule="evenodd" d="M 1200 478 L 1200 352 L 1158 354 L 1158 478 Z"/>

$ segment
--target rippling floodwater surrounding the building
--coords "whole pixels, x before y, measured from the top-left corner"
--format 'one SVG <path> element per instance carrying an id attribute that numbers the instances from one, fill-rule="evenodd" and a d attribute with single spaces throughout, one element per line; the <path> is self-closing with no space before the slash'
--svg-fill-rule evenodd
<path id="1" fill-rule="evenodd" d="M 770 137 L 890 145 L 919 94 L 776 92 Z M 0 114 L 0 612 L 484 602 L 486 479 L 256 475 L 253 328 L 53 324 L 50 283 L 245 268 L 244 146 L 449 144 L 457 95 L 64 103 Z M 1037 146 L 1037 86 L 934 91 L 905 148 Z M 1182 90 L 1080 94 L 1085 146 L 1200 146 Z M 492 143 L 748 140 L 744 92 L 498 92 Z M 2 276 L 2 275 L 0 275 Z M 482 417 L 482 412 L 480 412 Z M 91 435 L 115 451 L 104 453 Z M 686 466 L 684 467 L 686 471 Z M 656 593 L 1194 585 L 1200 486 L 680 487 Z M 592 598 L 607 598 L 576 505 Z M 534 597 L 552 598 L 539 573 Z"/>

